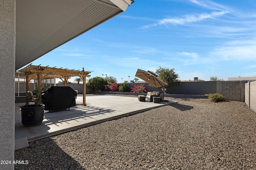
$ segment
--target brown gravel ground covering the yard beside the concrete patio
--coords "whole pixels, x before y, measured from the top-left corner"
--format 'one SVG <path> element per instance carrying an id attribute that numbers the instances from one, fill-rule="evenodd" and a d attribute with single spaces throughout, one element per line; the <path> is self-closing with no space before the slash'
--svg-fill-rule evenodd
<path id="1" fill-rule="evenodd" d="M 29 143 L 16 169 L 256 169 L 256 113 L 244 102 L 178 99 Z"/>

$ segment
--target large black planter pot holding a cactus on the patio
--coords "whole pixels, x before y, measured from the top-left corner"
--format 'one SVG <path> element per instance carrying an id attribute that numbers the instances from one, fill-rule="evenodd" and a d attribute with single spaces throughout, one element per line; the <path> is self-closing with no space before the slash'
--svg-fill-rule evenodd
<path id="1" fill-rule="evenodd" d="M 24 126 L 39 125 L 44 119 L 44 104 L 20 106 L 21 123 Z"/>

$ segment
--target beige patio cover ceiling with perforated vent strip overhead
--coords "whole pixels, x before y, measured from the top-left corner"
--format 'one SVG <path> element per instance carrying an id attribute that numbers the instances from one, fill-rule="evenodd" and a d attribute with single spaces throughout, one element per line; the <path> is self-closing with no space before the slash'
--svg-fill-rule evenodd
<path id="1" fill-rule="evenodd" d="M 15 70 L 124 12 L 133 0 L 17 0 Z"/>

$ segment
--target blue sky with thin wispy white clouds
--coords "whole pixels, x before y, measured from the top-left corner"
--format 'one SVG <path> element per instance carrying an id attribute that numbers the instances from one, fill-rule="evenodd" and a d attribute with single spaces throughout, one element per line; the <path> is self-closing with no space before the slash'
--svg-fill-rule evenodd
<path id="1" fill-rule="evenodd" d="M 118 82 L 159 66 L 174 68 L 180 80 L 256 76 L 255 0 L 134 1 L 32 64 L 84 67 L 91 78 L 107 74 Z"/>

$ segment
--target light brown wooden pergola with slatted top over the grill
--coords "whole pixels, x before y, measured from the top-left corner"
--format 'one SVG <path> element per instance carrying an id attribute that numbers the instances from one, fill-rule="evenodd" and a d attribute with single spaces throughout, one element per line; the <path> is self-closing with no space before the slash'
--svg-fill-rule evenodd
<path id="1" fill-rule="evenodd" d="M 74 76 L 78 76 L 82 79 L 83 87 L 83 105 L 86 106 L 86 77 L 90 77 L 91 71 L 80 70 L 68 70 L 67 68 L 56 68 L 38 65 L 28 65 L 25 68 L 19 70 L 24 76 L 26 76 L 26 91 L 29 91 L 30 80 L 37 77 L 39 89 L 42 87 L 42 80 L 46 78 L 60 78 L 64 82 L 64 86 L 67 86 L 68 79 Z M 26 104 L 28 104 L 28 93 L 26 93 Z"/>

